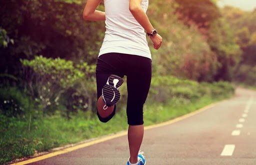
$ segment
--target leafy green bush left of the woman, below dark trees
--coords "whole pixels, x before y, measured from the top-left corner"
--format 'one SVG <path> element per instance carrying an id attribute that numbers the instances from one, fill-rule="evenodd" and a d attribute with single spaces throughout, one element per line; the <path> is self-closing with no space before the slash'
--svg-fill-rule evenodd
<path id="1" fill-rule="evenodd" d="M 74 64 L 71 60 L 43 56 L 23 59 L 21 63 L 24 66 L 25 89 L 38 102 L 43 113 L 49 109 L 54 112 L 59 101 L 69 110 L 77 109 L 81 104 L 82 109 L 88 107 L 91 110 L 96 90 L 95 65 L 86 62 Z"/>

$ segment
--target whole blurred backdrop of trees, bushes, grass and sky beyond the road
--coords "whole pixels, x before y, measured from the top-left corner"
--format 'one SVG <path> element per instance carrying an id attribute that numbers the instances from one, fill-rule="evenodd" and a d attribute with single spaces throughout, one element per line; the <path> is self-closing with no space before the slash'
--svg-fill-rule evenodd
<path id="1" fill-rule="evenodd" d="M 115 117 L 95 115 L 103 21 L 82 20 L 86 0 L 0 0 L 0 163 L 127 128 L 126 87 Z M 256 2 L 149 0 L 163 37 L 151 48 L 145 125 L 256 86 Z M 104 10 L 103 3 L 98 7 Z"/>

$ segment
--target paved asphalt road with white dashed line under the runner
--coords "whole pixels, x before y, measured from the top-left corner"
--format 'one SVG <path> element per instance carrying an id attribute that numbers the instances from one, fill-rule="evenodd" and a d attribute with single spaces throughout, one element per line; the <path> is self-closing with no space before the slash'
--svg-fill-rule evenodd
<path id="1" fill-rule="evenodd" d="M 106 123 L 107 124 L 107 123 Z M 256 92 L 235 97 L 191 117 L 145 130 L 141 146 L 151 164 L 256 164 Z M 30 164 L 126 164 L 127 136 Z"/>

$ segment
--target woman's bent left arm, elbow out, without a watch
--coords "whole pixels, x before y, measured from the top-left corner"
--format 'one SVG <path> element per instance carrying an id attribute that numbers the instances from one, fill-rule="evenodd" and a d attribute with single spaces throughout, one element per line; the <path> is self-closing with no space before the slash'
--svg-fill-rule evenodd
<path id="1" fill-rule="evenodd" d="M 82 12 L 84 20 L 105 20 L 105 12 L 96 10 L 100 2 L 101 0 L 87 0 Z"/>

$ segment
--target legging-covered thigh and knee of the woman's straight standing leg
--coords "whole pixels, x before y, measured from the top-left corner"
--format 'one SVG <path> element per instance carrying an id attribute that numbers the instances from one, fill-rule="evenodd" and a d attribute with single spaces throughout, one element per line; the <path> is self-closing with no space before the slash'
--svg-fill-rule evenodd
<path id="1" fill-rule="evenodd" d="M 128 124 L 143 124 L 143 104 L 151 82 L 151 59 L 134 57 L 127 75 L 127 118 Z"/>

